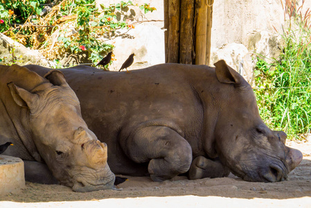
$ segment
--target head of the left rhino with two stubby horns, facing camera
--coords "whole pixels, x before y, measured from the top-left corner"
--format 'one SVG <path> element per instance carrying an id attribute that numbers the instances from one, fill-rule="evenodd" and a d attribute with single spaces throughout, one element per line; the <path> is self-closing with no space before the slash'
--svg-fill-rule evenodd
<path id="1" fill-rule="evenodd" d="M 29 81 L 33 89 L 14 83 L 8 87 L 21 107 L 23 129 L 29 130 L 24 135 L 32 138 L 23 140 L 30 154 L 37 161 L 42 157 L 54 177 L 73 191 L 113 189 L 115 176 L 107 164 L 107 146 L 87 128 L 78 98 L 62 72 L 53 70 L 44 78 L 29 73 L 33 73 Z"/>

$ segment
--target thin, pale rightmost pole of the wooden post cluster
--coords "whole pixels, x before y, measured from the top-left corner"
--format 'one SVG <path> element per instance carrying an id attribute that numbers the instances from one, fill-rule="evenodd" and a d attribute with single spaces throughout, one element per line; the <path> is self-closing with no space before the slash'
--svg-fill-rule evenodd
<path id="1" fill-rule="evenodd" d="M 214 0 L 208 0 L 207 8 L 207 26 L 206 26 L 206 60 L 205 64 L 209 66 L 211 60 L 211 33 L 213 25 L 213 3 Z"/>

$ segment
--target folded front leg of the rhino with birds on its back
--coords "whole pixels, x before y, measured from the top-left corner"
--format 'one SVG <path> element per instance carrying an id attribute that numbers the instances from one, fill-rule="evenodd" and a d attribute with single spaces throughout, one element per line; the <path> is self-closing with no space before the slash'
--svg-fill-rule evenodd
<path id="1" fill-rule="evenodd" d="M 188 141 L 164 126 L 142 128 L 127 139 L 125 153 L 137 163 L 149 162 L 152 180 L 161 182 L 186 173 L 192 161 Z"/>

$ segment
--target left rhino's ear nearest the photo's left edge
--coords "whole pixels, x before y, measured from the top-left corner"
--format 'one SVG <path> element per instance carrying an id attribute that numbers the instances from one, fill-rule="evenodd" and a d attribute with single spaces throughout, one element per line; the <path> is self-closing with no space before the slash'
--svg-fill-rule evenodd
<path id="1" fill-rule="evenodd" d="M 8 83 L 8 88 L 10 89 L 13 100 L 20 107 L 31 107 L 35 99 L 37 98 L 37 94 L 32 94 L 28 92 L 26 89 L 21 87 L 17 87 L 14 83 Z"/>

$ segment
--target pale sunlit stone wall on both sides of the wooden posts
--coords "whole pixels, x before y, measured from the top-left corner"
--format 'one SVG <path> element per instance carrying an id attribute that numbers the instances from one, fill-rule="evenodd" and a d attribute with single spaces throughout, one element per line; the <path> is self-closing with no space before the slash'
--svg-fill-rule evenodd
<path id="1" fill-rule="evenodd" d="M 120 1 L 97 0 L 96 4 L 100 8 L 100 3 L 107 7 L 112 3 L 120 3 Z M 157 10 L 144 14 L 138 6 L 130 6 L 130 10 L 134 10 L 135 14 L 134 21 L 132 21 L 135 28 L 130 31 L 118 31 L 119 35 L 116 37 L 103 40 L 115 46 L 116 61 L 109 67 L 110 70 L 120 69 L 131 53 L 135 53 L 136 56 L 134 56 L 134 63 L 130 69 L 140 69 L 165 62 L 163 1 L 166 0 L 132 0 L 134 5 L 150 3 L 150 6 Z M 304 11 L 311 8 L 311 1 L 305 1 L 303 8 Z M 239 67 L 243 67 L 247 76 L 251 76 L 249 71 L 254 67 L 252 59 L 254 53 L 269 57 L 278 56 L 278 49 L 281 46 L 278 32 L 282 31 L 283 26 L 286 27 L 281 0 L 215 0 L 211 65 L 218 58 L 224 58 L 232 64 L 231 67 L 237 71 Z M 8 48 L 3 49 L 2 52 L 0 50 L 2 56 L 5 51 L 8 52 Z M 29 52 L 27 53 L 29 54 Z M 36 53 L 34 51 L 33 54 Z M 10 57 L 10 53 L 5 56 Z M 48 62 L 42 57 L 34 58 L 33 56 L 28 60 L 33 60 L 33 63 L 38 64 Z"/>

